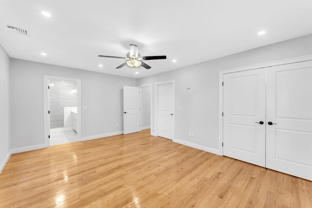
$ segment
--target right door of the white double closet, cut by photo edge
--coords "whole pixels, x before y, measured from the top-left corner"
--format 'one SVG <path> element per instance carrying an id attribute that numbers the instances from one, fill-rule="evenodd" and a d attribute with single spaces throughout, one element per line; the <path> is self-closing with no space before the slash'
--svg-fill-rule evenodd
<path id="1" fill-rule="evenodd" d="M 266 167 L 312 180 L 312 61 L 267 69 L 266 116 Z"/>

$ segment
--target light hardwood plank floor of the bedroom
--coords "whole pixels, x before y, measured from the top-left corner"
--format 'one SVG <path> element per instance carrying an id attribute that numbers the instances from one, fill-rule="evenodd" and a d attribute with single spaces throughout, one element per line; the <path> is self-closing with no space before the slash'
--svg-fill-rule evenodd
<path id="1" fill-rule="evenodd" d="M 311 208 L 312 182 L 145 130 L 13 154 L 0 207 Z"/>

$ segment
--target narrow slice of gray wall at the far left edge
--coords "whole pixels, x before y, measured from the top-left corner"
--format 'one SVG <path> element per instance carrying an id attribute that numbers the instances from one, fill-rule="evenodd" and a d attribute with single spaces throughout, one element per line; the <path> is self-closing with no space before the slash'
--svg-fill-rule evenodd
<path id="1" fill-rule="evenodd" d="M 0 45 L 0 173 L 10 157 L 10 57 Z"/>

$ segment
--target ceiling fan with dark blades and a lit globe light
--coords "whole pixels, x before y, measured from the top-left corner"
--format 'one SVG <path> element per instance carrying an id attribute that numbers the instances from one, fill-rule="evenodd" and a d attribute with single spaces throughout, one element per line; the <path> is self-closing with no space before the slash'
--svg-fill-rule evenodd
<path id="1" fill-rule="evenodd" d="M 123 58 L 127 61 L 117 66 L 116 69 L 120 69 L 121 67 L 128 65 L 130 67 L 139 67 L 142 66 L 145 69 L 150 69 L 151 67 L 144 63 L 142 60 L 156 60 L 156 59 L 166 59 L 166 56 L 152 56 L 152 57 L 141 57 L 141 54 L 138 53 L 138 47 L 136 44 L 130 44 L 130 52 L 126 54 L 126 57 L 111 57 L 111 56 L 102 56 L 98 55 L 98 57 L 107 57 L 107 58 Z"/>

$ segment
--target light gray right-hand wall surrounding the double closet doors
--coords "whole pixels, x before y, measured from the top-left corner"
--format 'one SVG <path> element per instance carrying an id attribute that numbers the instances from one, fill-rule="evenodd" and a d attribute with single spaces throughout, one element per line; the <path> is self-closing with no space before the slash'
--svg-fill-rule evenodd
<path id="1" fill-rule="evenodd" d="M 155 133 L 154 84 L 175 79 L 174 140 L 218 153 L 218 71 L 311 54 L 312 35 L 307 35 L 141 78 L 138 84 L 153 84 L 151 132 Z M 187 93 L 188 87 L 191 93 Z M 181 111 L 177 111 L 178 106 Z M 188 132 L 194 132 L 194 137 L 188 136 Z"/>

